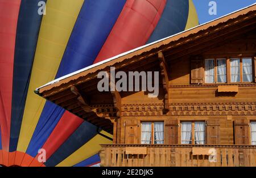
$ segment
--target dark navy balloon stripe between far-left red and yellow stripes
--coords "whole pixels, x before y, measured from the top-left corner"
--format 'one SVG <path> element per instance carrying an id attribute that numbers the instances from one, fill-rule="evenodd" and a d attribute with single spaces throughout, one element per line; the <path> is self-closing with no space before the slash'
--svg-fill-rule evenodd
<path id="1" fill-rule="evenodd" d="M 10 152 L 16 151 L 18 144 L 31 68 L 42 21 L 42 15 L 38 14 L 39 1 L 42 0 L 24 0 L 20 4 L 14 54 Z"/>

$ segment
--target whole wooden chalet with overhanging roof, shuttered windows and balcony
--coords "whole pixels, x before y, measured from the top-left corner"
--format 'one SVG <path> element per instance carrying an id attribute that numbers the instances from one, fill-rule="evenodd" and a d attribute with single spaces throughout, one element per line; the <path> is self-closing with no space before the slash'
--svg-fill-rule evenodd
<path id="1" fill-rule="evenodd" d="M 159 71 L 158 97 L 98 91 L 97 75 L 110 66 Z M 101 145 L 101 166 L 256 166 L 255 77 L 252 5 L 53 80 L 36 94 L 113 134 L 113 144 Z"/>

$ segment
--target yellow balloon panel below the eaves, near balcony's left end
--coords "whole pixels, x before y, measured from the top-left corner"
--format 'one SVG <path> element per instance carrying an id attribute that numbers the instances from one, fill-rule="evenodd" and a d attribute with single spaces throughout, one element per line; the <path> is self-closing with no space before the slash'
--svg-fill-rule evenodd
<path id="1" fill-rule="evenodd" d="M 107 135 L 110 138 L 113 137 L 112 135 L 104 131 L 101 131 L 101 133 L 104 135 Z M 90 156 L 97 154 L 98 151 L 100 151 L 101 149 L 100 144 L 111 144 L 111 143 L 113 143 L 113 141 L 110 141 L 109 139 L 97 134 L 95 137 L 93 137 L 88 142 L 86 142 L 85 145 L 80 147 L 80 149 L 73 152 L 73 154 L 68 156 L 68 158 L 64 159 L 61 163 L 59 163 L 57 167 L 74 166 L 75 164 L 80 163 L 87 158 L 90 158 Z"/>

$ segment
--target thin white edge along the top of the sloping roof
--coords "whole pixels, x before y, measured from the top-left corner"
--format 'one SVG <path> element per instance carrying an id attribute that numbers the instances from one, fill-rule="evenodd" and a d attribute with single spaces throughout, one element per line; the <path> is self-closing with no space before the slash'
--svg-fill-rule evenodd
<path id="1" fill-rule="evenodd" d="M 169 39 L 169 38 L 171 38 L 171 37 L 174 37 L 174 36 L 180 35 L 181 33 L 184 33 L 184 32 L 187 32 L 187 31 L 190 31 L 190 30 L 195 29 L 195 28 L 197 28 L 197 27 L 204 26 L 205 24 L 208 24 L 208 23 L 214 22 L 214 21 L 216 21 L 216 20 L 218 20 L 218 19 L 224 18 L 225 16 L 228 16 L 228 15 L 234 14 L 234 13 L 236 13 L 236 12 L 238 12 L 238 11 L 245 10 L 245 9 L 247 9 L 247 8 L 251 7 L 251 6 L 254 6 L 254 5 L 256 5 L 256 3 L 253 3 L 252 5 L 249 5 L 249 6 L 243 7 L 242 9 L 239 9 L 239 10 L 236 10 L 236 11 L 233 11 L 233 12 L 230 12 L 229 14 L 226 14 L 226 15 L 220 16 L 220 17 L 219 17 L 219 18 L 217 18 L 217 19 L 213 19 L 213 20 L 210 20 L 209 22 L 205 22 L 205 23 L 203 23 L 203 24 L 200 24 L 199 26 L 189 28 L 189 29 L 187 29 L 187 30 L 185 30 L 185 31 L 182 31 L 182 32 L 176 33 L 176 34 L 171 35 L 171 36 L 168 36 L 168 37 L 164 37 L 163 39 L 160 39 L 160 40 L 154 41 L 154 42 L 152 42 L 152 43 L 149 43 L 149 44 L 146 44 L 146 45 L 143 45 L 143 46 L 139 46 L 138 48 L 135 48 L 135 49 L 129 50 L 129 51 L 127 51 L 127 52 L 124 52 L 124 53 L 118 54 L 117 56 L 114 56 L 114 57 L 108 58 L 108 59 L 106 59 L 106 60 L 104 60 L 104 61 L 101 61 L 101 62 L 98 62 L 98 63 L 94 63 L 93 65 L 90 65 L 90 66 L 88 66 L 88 67 L 85 67 L 85 68 L 80 69 L 80 70 L 77 70 L 77 71 L 74 71 L 73 73 L 70 73 L 70 74 L 64 75 L 63 77 L 57 78 L 57 79 L 55 79 L 55 80 L 52 80 L 51 82 L 48 82 L 48 83 L 44 84 L 43 86 L 36 88 L 36 91 L 39 91 L 39 89 L 40 89 L 40 88 L 46 87 L 46 86 L 48 86 L 48 85 L 51 85 L 51 84 L 54 84 L 54 83 L 58 83 L 58 82 L 60 82 L 60 80 L 66 79 L 66 78 L 68 78 L 68 77 L 71 77 L 72 75 L 76 75 L 76 74 L 79 74 L 79 73 L 81 73 L 81 72 L 83 72 L 83 71 L 86 71 L 86 70 L 88 70 L 88 69 L 92 69 L 93 67 L 99 66 L 99 65 L 101 65 L 102 63 L 106 63 L 106 62 L 112 61 L 112 60 L 114 60 L 114 59 L 116 59 L 116 58 L 119 58 L 119 57 L 121 57 L 121 56 L 125 56 L 126 54 L 133 53 L 133 52 L 135 52 L 135 51 L 137 51 L 137 50 L 139 50 L 139 49 L 145 48 L 145 47 L 147 47 L 147 46 L 153 45 L 153 44 L 158 43 L 158 42 L 160 42 L 160 41 L 163 41 L 163 40 Z"/>

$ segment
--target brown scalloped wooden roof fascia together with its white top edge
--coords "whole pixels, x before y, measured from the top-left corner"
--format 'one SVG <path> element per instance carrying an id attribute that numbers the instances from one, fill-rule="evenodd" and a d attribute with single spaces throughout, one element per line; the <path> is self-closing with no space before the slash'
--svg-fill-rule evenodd
<path id="1" fill-rule="evenodd" d="M 53 87 L 60 86 L 61 84 L 66 83 L 71 79 L 72 80 L 77 79 L 81 76 L 85 76 L 86 74 L 93 73 L 97 70 L 104 69 L 106 66 L 113 65 L 116 62 L 121 62 L 123 60 L 127 60 L 127 59 L 133 58 L 135 56 L 139 56 L 145 52 L 150 52 L 152 49 L 157 49 L 163 45 L 170 44 L 171 42 L 183 39 L 185 37 L 189 37 L 191 35 L 195 35 L 196 33 L 200 32 L 200 31 L 204 31 L 210 27 L 214 27 L 214 26 L 217 26 L 218 24 L 228 22 L 231 19 L 236 19 L 236 18 L 238 18 L 238 16 L 246 15 L 249 12 L 252 12 L 255 10 L 256 10 L 256 3 L 254 3 L 253 5 L 247 6 L 243 9 L 231 12 L 230 14 L 224 15 L 218 19 L 215 19 L 210 22 L 196 26 L 194 28 L 188 29 L 186 31 L 176 33 L 175 35 L 168 36 L 164 39 L 160 39 L 158 41 L 155 41 L 155 42 L 147 44 L 147 45 L 140 46 L 140 47 L 130 50 L 128 52 L 119 54 L 118 56 L 114 56 L 107 60 L 98 62 L 94 65 L 85 67 L 84 69 L 77 70 L 71 74 L 65 75 L 65 76 L 57 78 L 55 80 L 52 80 L 51 82 L 44 84 L 43 86 L 41 86 L 39 88 L 36 88 L 36 93 L 42 94 L 42 92 L 50 90 Z"/>

